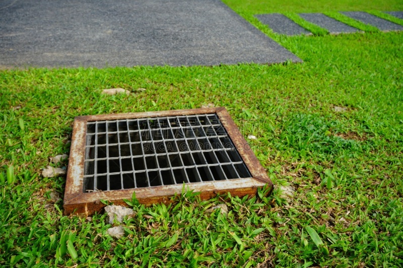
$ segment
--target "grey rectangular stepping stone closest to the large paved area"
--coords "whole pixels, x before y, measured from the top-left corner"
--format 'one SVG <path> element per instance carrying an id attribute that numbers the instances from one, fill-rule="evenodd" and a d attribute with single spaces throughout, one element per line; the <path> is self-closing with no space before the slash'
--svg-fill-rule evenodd
<path id="1" fill-rule="evenodd" d="M 270 27 L 275 33 L 285 35 L 312 34 L 302 28 L 283 14 L 261 14 L 255 17 L 262 23 Z"/>

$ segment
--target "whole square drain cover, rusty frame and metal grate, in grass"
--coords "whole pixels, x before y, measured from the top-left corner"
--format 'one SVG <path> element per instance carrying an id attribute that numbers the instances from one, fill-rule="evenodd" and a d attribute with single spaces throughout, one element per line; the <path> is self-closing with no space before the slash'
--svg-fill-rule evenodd
<path id="1" fill-rule="evenodd" d="M 74 120 L 64 213 L 168 202 L 183 184 L 201 199 L 273 187 L 224 107 L 79 116 Z"/>

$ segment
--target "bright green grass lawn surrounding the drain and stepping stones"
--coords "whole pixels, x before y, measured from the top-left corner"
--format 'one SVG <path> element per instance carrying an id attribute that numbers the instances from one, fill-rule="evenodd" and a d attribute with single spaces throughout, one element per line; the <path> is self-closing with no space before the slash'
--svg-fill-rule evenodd
<path id="1" fill-rule="evenodd" d="M 0 266 L 403 266 L 403 33 L 337 13 L 403 3 L 225 3 L 304 62 L 0 71 Z M 315 35 L 280 36 L 253 17 L 270 12 L 297 22 L 296 13 L 325 12 L 367 32 L 332 36 L 301 22 Z M 110 87 L 131 94 L 100 94 Z M 40 171 L 69 153 L 75 116 L 207 104 L 257 137 L 249 143 L 272 195 L 200 202 L 187 192 L 171 205 L 135 205 L 118 240 L 102 214 L 63 216 L 65 178 Z M 217 204 L 228 214 L 207 211 Z"/>

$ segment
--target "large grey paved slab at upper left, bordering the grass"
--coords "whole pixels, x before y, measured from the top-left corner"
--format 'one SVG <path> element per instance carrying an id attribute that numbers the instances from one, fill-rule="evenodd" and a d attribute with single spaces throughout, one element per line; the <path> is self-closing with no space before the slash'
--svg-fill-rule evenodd
<path id="1" fill-rule="evenodd" d="M 0 67 L 301 61 L 218 0 L 0 0 Z"/>

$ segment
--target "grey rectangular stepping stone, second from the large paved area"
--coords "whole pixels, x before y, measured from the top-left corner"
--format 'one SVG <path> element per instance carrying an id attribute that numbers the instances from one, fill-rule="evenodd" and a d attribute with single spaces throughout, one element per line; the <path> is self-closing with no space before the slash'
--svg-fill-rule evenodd
<path id="1" fill-rule="evenodd" d="M 321 13 L 301 13 L 299 14 L 299 16 L 310 23 L 316 24 L 317 26 L 326 29 L 331 34 L 359 32 L 358 29 L 339 22 Z"/>

